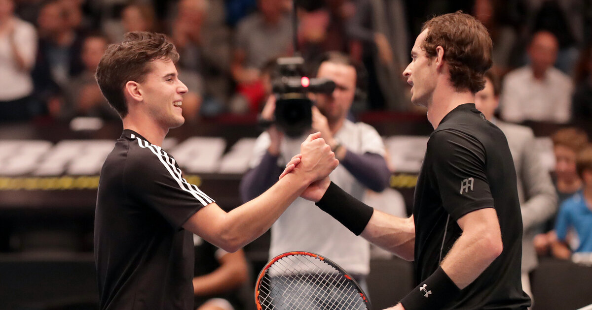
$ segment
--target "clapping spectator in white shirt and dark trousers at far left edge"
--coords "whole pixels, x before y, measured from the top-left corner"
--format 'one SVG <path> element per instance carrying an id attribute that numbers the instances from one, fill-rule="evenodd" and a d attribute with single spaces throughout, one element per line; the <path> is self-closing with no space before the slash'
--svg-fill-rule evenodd
<path id="1" fill-rule="evenodd" d="M 14 15 L 14 0 L 0 0 L 0 122 L 30 117 L 36 53 L 33 25 Z"/>

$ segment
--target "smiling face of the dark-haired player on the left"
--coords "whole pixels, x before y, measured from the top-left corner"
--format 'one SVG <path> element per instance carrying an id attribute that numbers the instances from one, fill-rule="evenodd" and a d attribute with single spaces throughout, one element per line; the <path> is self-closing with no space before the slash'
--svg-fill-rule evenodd
<path id="1" fill-rule="evenodd" d="M 183 125 L 181 103 L 187 86 L 179 80 L 175 64 L 170 60 L 155 60 L 150 68 L 150 73 L 139 83 L 144 109 L 163 129 Z"/>

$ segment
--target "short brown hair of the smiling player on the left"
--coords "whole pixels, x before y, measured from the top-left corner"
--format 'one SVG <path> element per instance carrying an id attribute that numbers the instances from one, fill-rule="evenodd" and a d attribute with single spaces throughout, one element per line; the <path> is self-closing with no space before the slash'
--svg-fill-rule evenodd
<path id="1" fill-rule="evenodd" d="M 121 118 L 127 115 L 123 88 L 128 81 L 141 83 L 155 60 L 179 60 L 175 45 L 164 34 L 128 32 L 121 43 L 111 44 L 96 68 L 95 78 L 109 104 Z"/>

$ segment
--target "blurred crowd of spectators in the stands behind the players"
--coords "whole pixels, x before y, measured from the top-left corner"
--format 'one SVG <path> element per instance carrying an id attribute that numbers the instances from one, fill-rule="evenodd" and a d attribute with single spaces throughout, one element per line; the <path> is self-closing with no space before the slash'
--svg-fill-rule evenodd
<path id="1" fill-rule="evenodd" d="M 94 71 L 127 31 L 172 38 L 189 121 L 260 112 L 271 92 L 265 68 L 294 52 L 313 62 L 341 51 L 365 69 L 353 113 L 413 112 L 401 76 L 411 41 L 428 17 L 457 10 L 475 15 L 493 38 L 501 119 L 592 117 L 590 1 L 299 0 L 296 7 L 294 38 L 291 0 L 0 0 L 0 122 L 116 119 Z"/>

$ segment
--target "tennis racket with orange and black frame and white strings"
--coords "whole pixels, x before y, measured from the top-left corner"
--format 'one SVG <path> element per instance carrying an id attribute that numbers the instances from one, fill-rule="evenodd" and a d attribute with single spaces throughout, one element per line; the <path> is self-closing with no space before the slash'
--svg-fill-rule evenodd
<path id="1" fill-rule="evenodd" d="M 272 259 L 255 285 L 258 310 L 370 310 L 366 293 L 336 263 L 310 252 Z"/>

